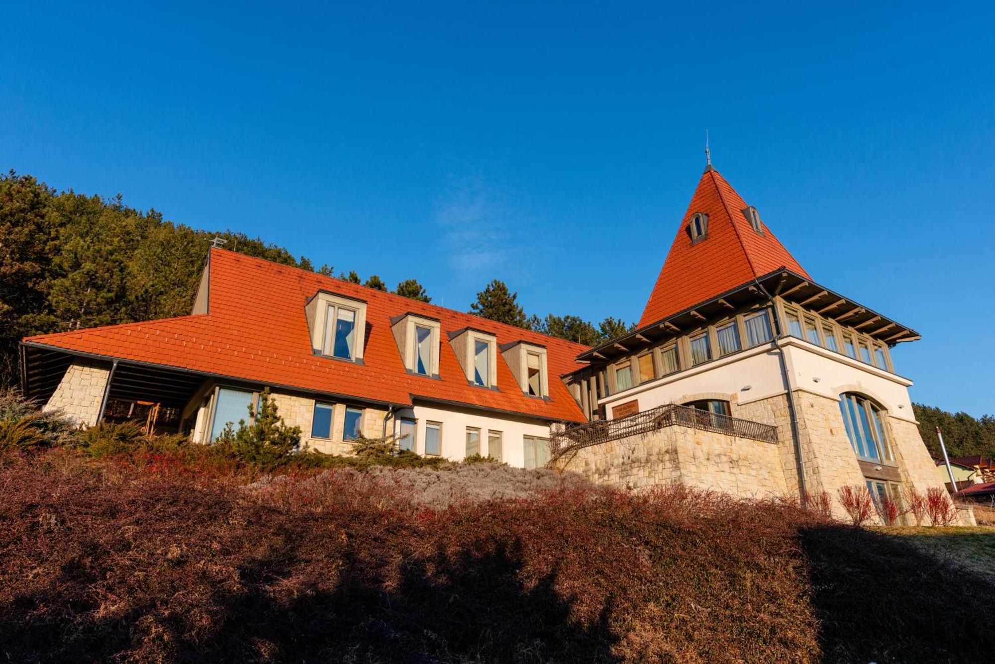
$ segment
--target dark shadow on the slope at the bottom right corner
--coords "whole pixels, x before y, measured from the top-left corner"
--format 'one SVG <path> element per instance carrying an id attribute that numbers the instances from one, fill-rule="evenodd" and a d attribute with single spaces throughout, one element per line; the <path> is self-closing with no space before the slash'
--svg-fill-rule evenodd
<path id="1" fill-rule="evenodd" d="M 995 629 L 992 578 L 893 535 L 821 526 L 803 529 L 800 536 L 824 661 L 984 657 L 975 644 L 989 642 Z M 995 540 L 995 533 L 988 537 Z"/>

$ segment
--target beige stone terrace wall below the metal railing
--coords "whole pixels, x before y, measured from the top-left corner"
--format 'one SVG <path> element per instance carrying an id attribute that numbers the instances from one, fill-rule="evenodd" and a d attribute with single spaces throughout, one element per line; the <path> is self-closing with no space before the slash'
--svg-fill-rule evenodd
<path id="1" fill-rule="evenodd" d="M 624 488 L 681 483 L 743 498 L 787 491 L 777 444 L 687 426 L 584 447 L 561 467 Z"/>

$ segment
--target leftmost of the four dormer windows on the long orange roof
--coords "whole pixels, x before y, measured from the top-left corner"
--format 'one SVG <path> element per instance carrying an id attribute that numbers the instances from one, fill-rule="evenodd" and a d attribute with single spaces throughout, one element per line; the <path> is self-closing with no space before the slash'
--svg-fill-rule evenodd
<path id="1" fill-rule="evenodd" d="M 304 306 L 315 355 L 362 362 L 366 302 L 318 291 Z"/>

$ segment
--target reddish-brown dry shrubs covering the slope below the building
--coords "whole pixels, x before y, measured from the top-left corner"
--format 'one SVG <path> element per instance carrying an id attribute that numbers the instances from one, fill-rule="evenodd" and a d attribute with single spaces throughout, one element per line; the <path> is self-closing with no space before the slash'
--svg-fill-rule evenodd
<path id="1" fill-rule="evenodd" d="M 0 468 L 0 652 L 19 662 L 984 659 L 992 583 L 891 538 L 789 501 L 506 471 L 339 469 L 237 490 L 68 451 Z M 475 478 L 504 498 L 454 488 Z M 870 616 L 875 602 L 896 612 Z"/>

